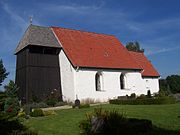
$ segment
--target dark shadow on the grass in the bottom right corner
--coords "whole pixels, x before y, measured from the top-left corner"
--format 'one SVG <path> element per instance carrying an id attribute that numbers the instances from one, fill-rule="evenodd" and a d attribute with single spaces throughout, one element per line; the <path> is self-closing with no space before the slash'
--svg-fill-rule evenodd
<path id="1" fill-rule="evenodd" d="M 180 131 L 167 130 L 158 127 L 153 127 L 152 131 L 141 135 L 180 135 Z"/>

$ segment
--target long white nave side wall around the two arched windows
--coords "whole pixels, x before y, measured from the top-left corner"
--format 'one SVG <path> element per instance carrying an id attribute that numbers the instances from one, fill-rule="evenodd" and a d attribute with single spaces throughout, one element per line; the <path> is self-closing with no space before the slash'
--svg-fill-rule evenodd
<path id="1" fill-rule="evenodd" d="M 147 89 L 144 85 L 144 80 L 139 72 L 127 72 L 125 89 L 120 88 L 120 75 L 122 70 L 103 70 L 103 90 L 96 91 L 95 74 L 98 70 L 79 69 L 76 72 L 76 94 L 79 99 L 93 98 L 100 101 L 117 98 L 118 96 L 147 94 Z M 151 85 L 151 84 L 150 84 Z"/>

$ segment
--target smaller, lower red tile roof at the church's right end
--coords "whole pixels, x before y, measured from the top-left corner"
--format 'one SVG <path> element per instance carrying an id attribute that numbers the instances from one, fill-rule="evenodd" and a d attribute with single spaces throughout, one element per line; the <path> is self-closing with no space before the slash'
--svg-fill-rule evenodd
<path id="1" fill-rule="evenodd" d="M 146 58 L 144 53 L 141 52 L 132 52 L 129 51 L 129 53 L 132 55 L 132 57 L 135 59 L 135 61 L 141 66 L 143 69 L 142 76 L 149 76 L 149 77 L 159 77 L 159 73 L 156 71 L 156 69 L 153 67 L 151 62 Z"/>

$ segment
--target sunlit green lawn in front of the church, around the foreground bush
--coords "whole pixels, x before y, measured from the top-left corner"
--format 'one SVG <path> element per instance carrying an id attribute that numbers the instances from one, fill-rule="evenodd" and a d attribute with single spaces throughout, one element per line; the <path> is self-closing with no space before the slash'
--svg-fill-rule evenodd
<path id="1" fill-rule="evenodd" d="M 101 105 L 107 110 L 118 110 L 127 117 L 152 120 L 155 128 L 151 134 L 180 135 L 180 103 L 171 105 Z M 95 107 L 85 109 L 58 110 L 57 115 L 31 118 L 26 125 L 38 131 L 39 135 L 79 135 L 79 121 L 85 119 L 86 112 Z"/>

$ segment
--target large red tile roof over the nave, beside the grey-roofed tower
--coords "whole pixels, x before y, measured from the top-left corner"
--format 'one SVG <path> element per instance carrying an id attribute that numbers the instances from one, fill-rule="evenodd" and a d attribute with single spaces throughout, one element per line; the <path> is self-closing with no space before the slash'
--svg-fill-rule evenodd
<path id="1" fill-rule="evenodd" d="M 74 67 L 142 69 L 112 35 L 52 27 Z"/>

